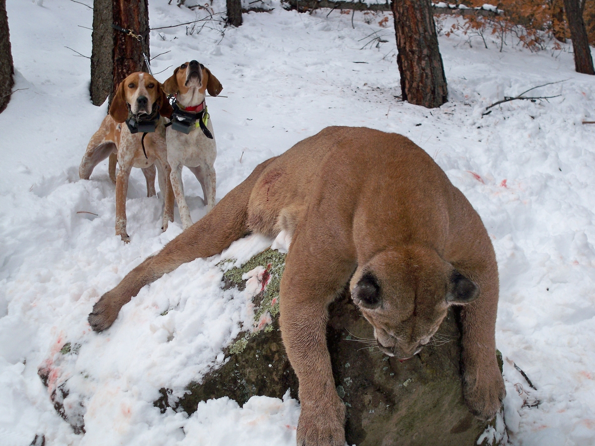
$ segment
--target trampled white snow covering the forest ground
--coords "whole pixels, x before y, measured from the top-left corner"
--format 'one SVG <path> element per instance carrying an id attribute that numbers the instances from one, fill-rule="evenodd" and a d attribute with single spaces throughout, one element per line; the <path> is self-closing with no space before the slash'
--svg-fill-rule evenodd
<path id="1" fill-rule="evenodd" d="M 108 331 L 90 332 L 93 303 L 181 232 L 179 215 L 161 233 L 161 200 L 145 197 L 135 169 L 124 244 L 114 235 L 107 162 L 89 181 L 78 178 L 107 112 L 89 102 L 89 59 L 65 48 L 90 55 L 90 8 L 70 0 L 8 0 L 7 8 L 21 90 L 0 115 L 0 444 L 27 446 L 36 436 L 52 446 L 295 444 L 299 404 L 289 397 L 255 397 L 242 408 L 208 401 L 191 417 L 152 404 L 159 388 L 180 394 L 220 362 L 252 322 L 246 299 L 220 288 L 221 256 L 181 266 L 140 291 Z M 152 27 L 201 14 L 167 0 L 149 8 Z M 511 443 L 595 444 L 595 126 L 581 124 L 595 120 L 595 79 L 574 72 L 569 48 L 532 53 L 508 42 L 499 52 L 496 43 L 470 48 L 461 36 L 441 36 L 450 102 L 412 106 L 396 98 L 392 17 L 384 28 L 383 15 L 358 12 L 354 29 L 350 14 L 327 13 L 277 7 L 245 14 L 224 35 L 215 22 L 151 33 L 151 54 L 168 51 L 152 62 L 165 70 L 159 80 L 198 59 L 224 86 L 227 98 L 208 100 L 218 199 L 259 162 L 327 125 L 405 134 L 465 193 L 493 238 Z M 508 102 L 482 117 L 505 95 L 558 81 L 532 92 L 560 95 L 549 102 Z M 184 185 L 196 221 L 202 191 L 188 171 Z M 248 259 L 270 242 L 249 237 L 223 256 Z M 85 434 L 56 413 L 53 391 L 71 422 L 84 417 Z"/>

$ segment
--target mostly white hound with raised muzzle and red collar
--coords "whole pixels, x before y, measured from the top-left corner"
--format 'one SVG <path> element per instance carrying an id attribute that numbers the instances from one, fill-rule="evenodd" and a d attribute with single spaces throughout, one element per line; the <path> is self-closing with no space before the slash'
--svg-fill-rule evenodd
<path id="1" fill-rule="evenodd" d="M 212 136 L 213 126 L 206 112 L 205 92 L 217 96 L 221 83 L 197 61 L 184 62 L 163 84 L 165 93 L 176 96 L 172 126 L 167 128 L 167 161 L 171 166 L 171 186 L 176 196 L 182 227 L 192 225 L 184 198 L 181 171 L 186 166 L 201 183 L 207 212 L 215 205 L 215 158 L 217 145 Z M 186 125 L 185 133 L 176 130 Z"/>

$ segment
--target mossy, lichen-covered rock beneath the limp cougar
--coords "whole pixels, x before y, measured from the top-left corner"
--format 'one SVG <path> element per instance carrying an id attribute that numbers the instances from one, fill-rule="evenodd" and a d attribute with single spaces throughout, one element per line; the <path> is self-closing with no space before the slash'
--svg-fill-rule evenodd
<path id="1" fill-rule="evenodd" d="M 224 352 L 227 362 L 204 376 L 201 383 L 191 383 L 179 400 L 170 401 L 167 390 L 162 389 L 156 406 L 165 410 L 171 405 L 190 414 L 200 401 L 210 398 L 227 396 L 244 404 L 253 395 L 281 398 L 288 389 L 292 397 L 297 397 L 297 377 L 278 328 L 278 284 L 283 262 L 283 254 L 265 250 L 242 268 L 224 274 L 224 287 L 243 289 L 242 276 L 246 272 L 257 266 L 265 268 L 268 285 L 253 302 L 255 319 L 268 311 L 273 316 L 271 324 L 256 332 L 241 333 Z M 275 306 L 277 312 L 273 314 Z M 361 342 L 373 338 L 372 326 L 362 318 L 348 292 L 331 304 L 328 349 L 337 392 L 347 407 L 345 433 L 349 444 L 477 444 L 488 423 L 475 418 L 462 397 L 457 320 L 455 311 L 449 310 L 439 330 L 439 341 L 400 362 Z"/>

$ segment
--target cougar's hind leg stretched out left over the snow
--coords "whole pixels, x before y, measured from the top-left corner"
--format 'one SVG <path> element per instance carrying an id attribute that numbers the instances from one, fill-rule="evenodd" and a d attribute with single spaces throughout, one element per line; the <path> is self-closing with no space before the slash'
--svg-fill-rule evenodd
<path id="1" fill-rule="evenodd" d="M 274 158 L 273 158 L 274 159 Z M 250 193 L 269 159 L 256 169 L 239 186 L 228 193 L 201 221 L 178 235 L 155 256 L 130 271 L 113 290 L 108 291 L 93 306 L 89 323 L 93 330 L 102 331 L 114 323 L 121 307 L 144 287 L 162 275 L 173 271 L 197 257 L 220 253 L 231 242 L 249 233 L 248 202 Z"/>

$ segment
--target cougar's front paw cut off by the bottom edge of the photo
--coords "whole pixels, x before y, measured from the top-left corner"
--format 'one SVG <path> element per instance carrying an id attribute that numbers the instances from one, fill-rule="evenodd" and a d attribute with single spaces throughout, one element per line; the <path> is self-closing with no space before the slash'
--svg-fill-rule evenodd
<path id="1" fill-rule="evenodd" d="M 345 405 L 336 398 L 333 404 L 302 404 L 297 423 L 297 446 L 344 446 Z"/>

